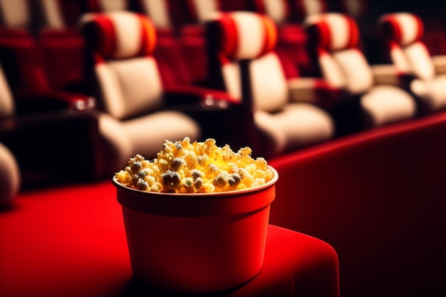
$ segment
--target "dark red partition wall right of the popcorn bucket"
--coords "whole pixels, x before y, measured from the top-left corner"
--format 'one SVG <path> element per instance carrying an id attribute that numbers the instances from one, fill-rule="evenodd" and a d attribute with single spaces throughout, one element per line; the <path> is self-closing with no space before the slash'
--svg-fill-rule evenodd
<path id="1" fill-rule="evenodd" d="M 446 113 L 270 160 L 270 223 L 338 252 L 341 296 L 444 296 Z"/>

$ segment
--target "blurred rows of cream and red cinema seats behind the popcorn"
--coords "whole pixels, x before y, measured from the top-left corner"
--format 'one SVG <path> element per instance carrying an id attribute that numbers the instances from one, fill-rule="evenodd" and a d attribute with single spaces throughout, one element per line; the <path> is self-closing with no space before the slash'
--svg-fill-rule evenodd
<path id="1" fill-rule="evenodd" d="M 17 111 L 27 114 L 35 112 L 37 107 L 38 110 L 51 107 L 58 114 L 52 127 L 76 130 L 70 135 L 73 140 L 70 146 L 61 145 L 61 135 L 66 132 L 41 128 L 38 134 L 53 131 L 53 135 L 58 135 L 43 142 L 46 146 L 41 151 L 47 152 L 44 156 L 48 158 L 68 159 L 60 169 L 63 172 L 70 167 L 68 177 L 56 170 L 65 179 L 84 176 L 85 171 L 90 173 L 86 174 L 88 177 L 107 177 L 125 165 L 131 155 L 154 157 L 165 139 L 215 137 L 222 144 L 249 145 L 255 155 L 275 157 L 444 107 L 442 84 L 432 79 L 434 68 L 426 70 L 426 65 L 431 63 L 429 56 L 422 56 L 426 53 L 422 51 L 424 47 L 405 50 L 412 41 L 420 41 L 422 37 L 420 19 L 408 14 L 382 19 L 391 44 L 390 57 L 398 60 L 395 61 L 397 71 L 395 66 L 370 67 L 361 51 L 360 31 L 351 16 L 330 13 L 306 17 L 296 28 L 308 38 L 304 43 L 311 50 L 299 52 L 308 54 L 305 61 L 311 65 L 307 70 L 312 69 L 313 78 L 299 73 L 305 68 L 304 63 L 299 62 L 302 66 L 299 68 L 290 61 L 296 48 L 283 46 L 290 35 L 284 34 L 281 29 L 286 26 L 279 26 L 280 22 L 274 19 L 274 16 L 279 18 L 273 13 L 274 8 L 284 11 L 288 6 L 283 4 L 288 2 L 274 1 L 272 5 L 269 1 L 254 1 L 261 3 L 259 7 L 265 13 L 269 11 L 270 16 L 242 12 L 240 7 L 237 11 L 211 14 L 208 17 L 211 19 L 202 19 L 195 29 L 181 26 L 190 35 L 184 32 L 179 35 L 178 30 L 157 26 L 157 22 L 162 22 L 159 12 L 148 18 L 147 14 L 133 14 L 118 6 L 100 6 L 100 1 L 88 3 L 93 2 L 95 6 L 89 14 L 66 18 L 74 21 L 71 27 L 61 24 L 61 15 L 56 17 L 57 8 L 69 4 L 67 7 L 71 9 L 65 12 L 73 14 L 80 11 L 73 7 L 81 1 L 61 1 L 60 6 L 56 6 L 56 1 L 42 1 L 43 6 L 36 11 L 48 9 L 45 29 L 36 35 L 26 29 L 29 26 L 26 21 L 14 24 L 10 20 L 12 24 L 5 24 L 0 34 L 1 66 Z M 118 5 L 118 2 L 104 1 L 103 4 Z M 200 1 L 192 2 L 199 4 Z M 203 2 L 208 9 L 214 5 L 209 4 L 211 1 Z M 12 2 L 1 2 L 4 7 L 6 3 Z M 26 7 L 26 1 L 14 3 L 16 9 Z M 148 7 L 155 1 L 145 3 Z M 229 3 L 222 2 L 222 6 L 210 9 Z M 108 14 L 98 13 L 104 10 Z M 25 16 L 22 21 L 31 19 Z M 53 25 L 49 26 L 51 20 Z M 178 36 L 183 46 L 176 43 Z M 193 48 L 190 53 L 183 51 L 187 44 Z M 288 49 L 286 53 L 285 49 Z M 38 56 L 45 52 L 46 58 Z M 201 59 L 193 58 L 192 53 L 199 53 Z M 406 53 L 408 57 L 404 56 Z M 425 63 L 400 63 L 410 58 L 420 61 L 420 56 Z M 200 68 L 199 60 L 205 65 L 205 74 L 202 78 L 199 75 L 192 78 L 190 69 Z M 187 62 L 194 67 L 185 65 Z M 53 71 L 41 63 L 53 63 Z M 408 80 L 410 75 L 418 74 L 418 68 L 409 66 L 422 68 L 422 80 Z M 190 76 L 180 75 L 182 69 Z M 65 118 L 66 110 L 71 110 L 71 121 L 58 120 L 58 117 Z M 83 125 L 76 126 L 73 124 L 76 121 Z M 14 134 L 11 129 L 8 133 Z M 34 131 L 28 134 L 36 135 Z M 14 142 L 12 137 L 4 139 L 14 150 L 23 144 L 23 140 Z M 76 141 L 78 146 L 82 144 L 81 149 Z M 51 149 L 46 150 L 47 147 Z M 62 155 L 55 153 L 61 150 Z M 82 159 L 84 162 L 78 162 Z M 19 157 L 21 168 L 26 168 L 28 162 L 33 161 Z M 42 168 L 54 170 L 48 167 L 51 162 L 41 163 L 38 164 Z"/>

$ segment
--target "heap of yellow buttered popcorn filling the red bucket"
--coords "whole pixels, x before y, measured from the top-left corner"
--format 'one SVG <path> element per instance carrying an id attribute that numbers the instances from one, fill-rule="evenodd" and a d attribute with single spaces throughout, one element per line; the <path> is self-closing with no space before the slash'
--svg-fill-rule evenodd
<path id="1" fill-rule="evenodd" d="M 256 187 L 273 178 L 266 160 L 251 157 L 251 148 L 238 152 L 218 147 L 212 138 L 190 142 L 166 140 L 154 160 L 130 158 L 115 178 L 125 187 L 147 192 L 209 193 Z"/>

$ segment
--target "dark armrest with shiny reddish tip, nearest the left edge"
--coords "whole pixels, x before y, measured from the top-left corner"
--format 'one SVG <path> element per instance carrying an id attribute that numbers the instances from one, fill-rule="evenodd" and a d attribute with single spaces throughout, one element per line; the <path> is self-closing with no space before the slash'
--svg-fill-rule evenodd
<path id="1" fill-rule="evenodd" d="M 14 94 L 17 115 L 53 110 L 92 110 L 96 100 L 90 95 L 63 91 L 17 92 Z"/>

